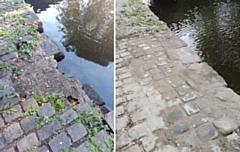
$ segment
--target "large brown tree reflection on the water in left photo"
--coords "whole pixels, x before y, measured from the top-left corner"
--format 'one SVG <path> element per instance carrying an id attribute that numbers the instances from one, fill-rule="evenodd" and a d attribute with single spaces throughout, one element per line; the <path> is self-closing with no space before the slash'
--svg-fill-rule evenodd
<path id="1" fill-rule="evenodd" d="M 58 9 L 67 51 L 102 66 L 113 62 L 112 0 L 66 0 Z"/>

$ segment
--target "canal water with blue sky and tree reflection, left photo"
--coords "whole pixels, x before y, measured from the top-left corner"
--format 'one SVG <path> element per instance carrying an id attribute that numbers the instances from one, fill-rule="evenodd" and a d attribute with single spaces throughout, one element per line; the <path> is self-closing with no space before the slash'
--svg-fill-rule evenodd
<path id="1" fill-rule="evenodd" d="M 44 23 L 45 33 L 64 52 L 58 67 L 90 84 L 114 106 L 113 0 L 25 0 Z"/>

